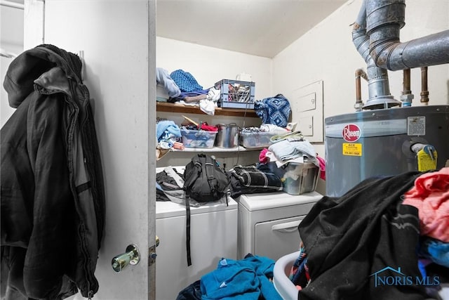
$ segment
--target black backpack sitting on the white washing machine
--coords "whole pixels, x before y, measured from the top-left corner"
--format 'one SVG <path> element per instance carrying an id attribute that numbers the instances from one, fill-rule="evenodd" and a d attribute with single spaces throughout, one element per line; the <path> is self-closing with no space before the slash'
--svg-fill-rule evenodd
<path id="1" fill-rule="evenodd" d="M 184 188 L 198 202 L 220 200 L 229 191 L 229 177 L 213 157 L 197 154 L 185 166 Z"/>

